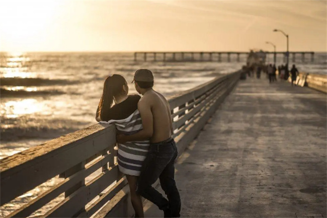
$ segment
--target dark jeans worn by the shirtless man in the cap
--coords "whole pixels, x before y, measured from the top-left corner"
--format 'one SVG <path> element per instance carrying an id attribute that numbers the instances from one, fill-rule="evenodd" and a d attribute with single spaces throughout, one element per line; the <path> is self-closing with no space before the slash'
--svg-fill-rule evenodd
<path id="1" fill-rule="evenodd" d="M 174 179 L 174 162 L 177 154 L 176 143 L 172 138 L 163 142 L 151 143 L 136 189 L 137 193 L 165 211 L 165 215 L 169 211 L 172 217 L 181 216 L 181 197 Z M 168 200 L 151 186 L 158 178 Z"/>

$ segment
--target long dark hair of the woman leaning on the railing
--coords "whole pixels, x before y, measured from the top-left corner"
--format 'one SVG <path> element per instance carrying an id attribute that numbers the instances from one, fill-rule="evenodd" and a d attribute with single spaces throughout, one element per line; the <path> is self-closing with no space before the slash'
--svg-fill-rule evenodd
<path id="1" fill-rule="evenodd" d="M 126 80 L 121 75 L 114 74 L 106 78 L 103 86 L 103 93 L 99 102 L 99 114 L 101 120 L 104 118 L 104 113 L 111 108 L 114 98 L 124 94 L 124 85 L 126 85 Z"/>

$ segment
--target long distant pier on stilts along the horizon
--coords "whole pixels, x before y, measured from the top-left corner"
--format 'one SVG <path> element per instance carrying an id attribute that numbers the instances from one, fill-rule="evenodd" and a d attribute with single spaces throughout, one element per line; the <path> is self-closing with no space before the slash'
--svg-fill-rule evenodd
<path id="1" fill-rule="evenodd" d="M 265 52 L 267 55 L 276 54 L 283 55 L 286 60 L 286 52 Z M 305 55 L 310 55 L 310 61 L 314 61 L 314 52 L 289 52 L 292 61 L 296 61 L 296 55 L 301 55 L 301 61 L 305 62 Z M 249 52 L 135 52 L 134 61 L 163 61 L 163 62 L 198 62 L 198 61 L 236 61 L 240 62 L 240 56 L 248 57 Z M 236 57 L 231 59 L 231 57 Z"/>

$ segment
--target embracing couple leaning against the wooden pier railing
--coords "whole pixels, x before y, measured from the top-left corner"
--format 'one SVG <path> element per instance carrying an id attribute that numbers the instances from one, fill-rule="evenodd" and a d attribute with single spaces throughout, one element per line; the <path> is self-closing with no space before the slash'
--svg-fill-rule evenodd
<path id="1" fill-rule="evenodd" d="M 169 103 L 152 89 L 150 70 L 137 70 L 133 82 L 142 97 L 128 95 L 121 75 L 106 78 L 96 120 L 116 125 L 118 167 L 126 175 L 135 217 L 144 217 L 141 196 L 163 210 L 165 217 L 180 217 L 181 199 L 174 179 L 177 147 Z M 168 199 L 151 186 L 158 178 Z"/>

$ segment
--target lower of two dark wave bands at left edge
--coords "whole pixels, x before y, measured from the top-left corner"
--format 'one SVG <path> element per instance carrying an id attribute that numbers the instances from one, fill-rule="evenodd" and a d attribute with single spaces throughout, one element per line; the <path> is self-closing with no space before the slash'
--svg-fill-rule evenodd
<path id="1" fill-rule="evenodd" d="M 6 97 L 29 97 L 29 96 L 45 96 L 45 95 L 62 95 L 66 94 L 58 90 L 49 91 L 26 91 L 26 90 L 8 90 L 0 88 L 0 95 L 2 98 Z"/>

